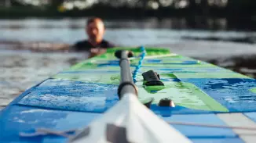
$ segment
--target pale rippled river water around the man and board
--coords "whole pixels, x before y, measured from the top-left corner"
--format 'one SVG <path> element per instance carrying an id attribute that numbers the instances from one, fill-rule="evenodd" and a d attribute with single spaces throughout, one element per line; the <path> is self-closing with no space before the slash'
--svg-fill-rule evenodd
<path id="1" fill-rule="evenodd" d="M 191 27 L 185 19 L 105 20 L 105 39 L 119 46 L 155 46 L 254 77 L 256 32 L 230 29 L 225 19 Z M 82 53 L 31 52 L 22 43 L 72 45 L 86 38 L 85 18 L 0 20 L 0 109 L 21 92 L 75 64 Z M 30 46 L 30 45 L 29 45 Z M 34 45 L 32 45 L 33 47 Z"/>

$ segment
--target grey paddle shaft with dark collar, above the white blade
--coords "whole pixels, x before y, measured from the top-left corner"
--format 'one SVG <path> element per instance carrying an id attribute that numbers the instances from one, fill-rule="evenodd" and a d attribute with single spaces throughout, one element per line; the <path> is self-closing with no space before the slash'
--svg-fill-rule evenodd
<path id="1" fill-rule="evenodd" d="M 130 60 L 128 51 L 121 50 L 118 51 L 119 55 L 116 55 L 119 59 L 119 65 L 121 68 L 121 80 L 119 85 L 119 98 L 122 98 L 124 94 L 131 93 L 133 95 L 137 95 L 137 88 L 133 83 L 133 78 L 130 70 Z"/>

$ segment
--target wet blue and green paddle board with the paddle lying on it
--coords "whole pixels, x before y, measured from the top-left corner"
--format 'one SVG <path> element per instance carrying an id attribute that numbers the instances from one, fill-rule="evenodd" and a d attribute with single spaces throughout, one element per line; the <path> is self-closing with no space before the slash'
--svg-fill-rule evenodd
<path id="1" fill-rule="evenodd" d="M 166 48 L 111 48 L 0 111 L 1 143 L 255 142 L 256 81 Z"/>

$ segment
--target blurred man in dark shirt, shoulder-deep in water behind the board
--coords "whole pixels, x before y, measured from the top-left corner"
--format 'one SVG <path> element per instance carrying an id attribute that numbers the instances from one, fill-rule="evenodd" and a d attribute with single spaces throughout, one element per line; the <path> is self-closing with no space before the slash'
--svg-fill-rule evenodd
<path id="1" fill-rule="evenodd" d="M 98 17 L 90 18 L 86 23 L 88 39 L 76 42 L 71 51 L 86 51 L 90 53 L 90 57 L 103 54 L 107 48 L 115 47 L 111 42 L 104 40 L 104 33 L 103 20 Z"/>

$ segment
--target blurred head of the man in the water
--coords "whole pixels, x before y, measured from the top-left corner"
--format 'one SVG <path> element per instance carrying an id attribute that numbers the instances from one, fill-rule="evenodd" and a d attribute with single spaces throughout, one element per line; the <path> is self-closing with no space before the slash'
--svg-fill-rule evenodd
<path id="1" fill-rule="evenodd" d="M 87 20 L 86 33 L 93 42 L 101 42 L 104 36 L 105 27 L 101 18 L 93 17 Z"/>

